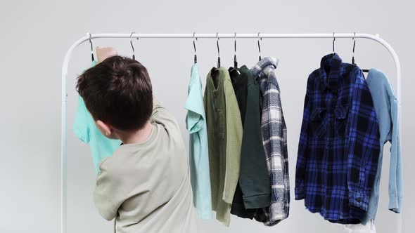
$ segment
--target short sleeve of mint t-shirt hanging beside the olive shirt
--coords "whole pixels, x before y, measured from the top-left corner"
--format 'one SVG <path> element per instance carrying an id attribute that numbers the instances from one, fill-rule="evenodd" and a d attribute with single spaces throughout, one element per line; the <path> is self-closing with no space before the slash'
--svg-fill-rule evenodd
<path id="1" fill-rule="evenodd" d="M 186 128 L 189 133 L 200 131 L 204 122 L 203 96 L 201 87 L 198 84 L 189 86 L 189 95 L 186 100 Z"/>

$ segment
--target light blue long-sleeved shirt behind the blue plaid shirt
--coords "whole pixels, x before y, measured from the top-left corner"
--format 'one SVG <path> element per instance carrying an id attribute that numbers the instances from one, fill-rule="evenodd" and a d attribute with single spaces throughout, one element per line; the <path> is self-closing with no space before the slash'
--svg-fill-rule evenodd
<path id="1" fill-rule="evenodd" d="M 376 116 L 379 121 L 381 134 L 381 154 L 379 155 L 378 171 L 376 173 L 373 191 L 369 198 L 369 207 L 366 224 L 374 220 L 378 211 L 379 183 L 381 181 L 383 145 L 390 142 L 390 167 L 389 167 L 389 210 L 400 213 L 403 199 L 403 172 L 400 147 L 400 124 L 398 122 L 398 102 L 388 78 L 376 69 L 370 69 L 367 75 L 367 84 L 373 98 Z"/>

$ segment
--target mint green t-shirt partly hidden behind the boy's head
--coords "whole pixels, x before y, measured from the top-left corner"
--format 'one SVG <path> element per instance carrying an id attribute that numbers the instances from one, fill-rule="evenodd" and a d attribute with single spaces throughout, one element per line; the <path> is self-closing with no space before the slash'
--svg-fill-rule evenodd
<path id="1" fill-rule="evenodd" d="M 96 62 L 93 62 L 91 67 L 94 65 L 96 65 Z M 99 172 L 99 163 L 103 161 L 103 159 L 113 156 L 115 149 L 121 145 L 120 140 L 106 138 L 106 136 L 102 135 L 98 128 L 96 128 L 94 119 L 88 112 L 84 100 L 79 95 L 73 131 L 79 140 L 89 144 L 91 147 L 92 161 L 94 162 L 96 173 Z"/>

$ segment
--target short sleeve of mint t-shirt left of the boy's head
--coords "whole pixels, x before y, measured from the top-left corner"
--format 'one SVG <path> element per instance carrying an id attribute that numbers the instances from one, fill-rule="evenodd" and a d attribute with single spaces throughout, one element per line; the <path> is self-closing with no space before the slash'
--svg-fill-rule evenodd
<path id="1" fill-rule="evenodd" d="M 85 106 L 84 100 L 80 95 L 78 95 L 78 107 L 77 114 L 75 116 L 75 123 L 73 125 L 73 132 L 79 140 L 88 144 L 89 142 L 89 124 L 88 119 L 91 117 Z"/>

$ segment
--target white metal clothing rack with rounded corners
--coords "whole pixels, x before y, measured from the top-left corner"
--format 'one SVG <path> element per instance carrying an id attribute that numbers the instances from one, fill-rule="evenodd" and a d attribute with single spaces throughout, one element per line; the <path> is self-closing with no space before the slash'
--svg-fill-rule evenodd
<path id="1" fill-rule="evenodd" d="M 272 39 L 311 39 L 311 38 L 365 38 L 371 39 L 373 41 L 378 42 L 383 47 L 385 47 L 395 62 L 395 72 L 396 72 L 396 81 L 397 81 L 397 99 L 399 102 L 398 112 L 399 112 L 399 119 L 401 119 L 401 66 L 399 58 L 395 53 L 395 50 L 386 42 L 385 40 L 381 39 L 381 37 L 376 34 L 364 34 L 364 33 L 319 33 L 319 34 L 130 34 L 130 33 L 123 33 L 123 34 L 87 34 L 87 36 L 83 36 L 75 41 L 72 46 L 68 49 L 65 54 L 65 59 L 63 60 L 63 67 L 62 67 L 62 113 L 61 113 L 61 135 L 60 135 L 60 233 L 66 233 L 66 204 L 67 204 L 67 136 L 68 136 L 68 123 L 67 123 L 67 76 L 68 76 L 68 65 L 70 59 L 72 58 L 72 52 L 79 46 L 80 44 L 84 43 L 85 41 L 89 41 L 89 39 L 96 39 L 96 38 L 164 38 L 164 39 L 201 39 L 201 38 L 230 38 L 230 39 L 258 39 L 258 38 L 272 38 Z M 400 227 L 399 227 L 400 228 Z M 398 232 L 401 232 L 399 229 Z"/>

